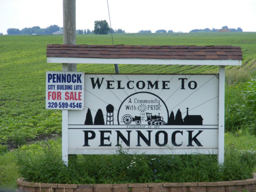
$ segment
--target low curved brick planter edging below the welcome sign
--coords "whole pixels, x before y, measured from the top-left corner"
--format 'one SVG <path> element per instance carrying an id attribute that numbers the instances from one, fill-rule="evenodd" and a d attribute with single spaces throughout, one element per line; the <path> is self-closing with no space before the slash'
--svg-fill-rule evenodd
<path id="1" fill-rule="evenodd" d="M 256 192 L 256 174 L 252 179 L 231 182 L 127 183 L 127 184 L 54 184 L 32 183 L 17 179 L 19 192 Z"/>

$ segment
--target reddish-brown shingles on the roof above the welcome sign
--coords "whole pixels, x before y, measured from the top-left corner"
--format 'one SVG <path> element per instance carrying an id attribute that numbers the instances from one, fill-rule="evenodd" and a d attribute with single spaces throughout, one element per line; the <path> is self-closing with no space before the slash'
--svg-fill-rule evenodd
<path id="1" fill-rule="evenodd" d="M 98 59 L 242 60 L 240 46 L 47 45 L 47 57 Z"/>

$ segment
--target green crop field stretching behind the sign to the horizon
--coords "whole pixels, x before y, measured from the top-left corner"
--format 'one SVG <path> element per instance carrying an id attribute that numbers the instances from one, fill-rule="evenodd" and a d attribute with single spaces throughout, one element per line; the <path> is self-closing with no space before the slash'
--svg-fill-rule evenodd
<path id="1" fill-rule="evenodd" d="M 254 117 L 249 120 L 246 117 L 251 112 L 245 108 L 245 101 L 242 101 L 243 96 L 241 96 L 241 91 L 245 88 L 244 82 L 256 76 L 256 32 L 126 33 L 113 34 L 113 39 L 116 45 L 241 46 L 242 66 L 226 67 L 226 114 L 228 115 L 225 126 L 234 127 L 229 130 L 232 130 L 235 136 L 241 136 L 243 131 L 241 132 L 240 128 L 245 127 L 246 121 L 253 126 L 256 125 Z M 61 71 L 61 63 L 46 62 L 47 44 L 63 44 L 63 36 L 0 36 L 0 143 L 2 144 L 0 145 L 0 187 L 1 182 L 11 180 L 5 167 L 9 165 L 10 170 L 14 170 L 15 167 L 13 154 L 7 153 L 6 156 L 11 156 L 8 161 L 1 157 L 1 153 L 8 150 L 7 145 L 18 147 L 30 139 L 40 139 L 42 135 L 61 134 L 61 111 L 45 109 L 45 72 Z M 77 44 L 112 44 L 112 38 L 110 34 L 77 35 Z M 115 69 L 114 65 L 78 63 L 77 71 L 114 73 Z M 218 67 L 119 65 L 119 71 L 120 73 L 217 73 Z M 255 126 L 253 129 L 252 135 L 256 135 Z M 229 143 L 236 142 L 237 138 L 227 134 Z M 250 136 L 250 139 L 255 142 L 255 136 Z M 241 141 L 243 144 L 239 149 L 249 150 L 244 140 Z M 256 150 L 255 144 L 249 147 Z M 1 172 L 6 173 L 7 176 L 2 176 Z M 17 172 L 12 174 L 14 178 L 18 177 Z M 14 186 L 15 182 L 10 181 L 9 184 Z"/>

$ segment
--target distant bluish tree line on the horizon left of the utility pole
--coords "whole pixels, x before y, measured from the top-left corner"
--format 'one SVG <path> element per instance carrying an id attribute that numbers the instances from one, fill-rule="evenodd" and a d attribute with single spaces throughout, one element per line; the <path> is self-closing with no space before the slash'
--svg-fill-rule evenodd
<path id="1" fill-rule="evenodd" d="M 8 28 L 7 33 L 8 34 L 53 34 L 53 32 L 61 31 L 61 28 L 63 30 L 63 27 L 59 27 L 57 25 L 51 25 L 46 28 L 40 28 L 39 26 L 34 27 L 26 27 L 22 28 L 22 30 L 19 30 L 18 28 Z"/>

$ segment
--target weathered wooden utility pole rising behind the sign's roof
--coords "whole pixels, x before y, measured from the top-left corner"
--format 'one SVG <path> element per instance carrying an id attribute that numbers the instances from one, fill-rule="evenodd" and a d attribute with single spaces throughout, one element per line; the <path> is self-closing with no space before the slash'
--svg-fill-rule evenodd
<path id="1" fill-rule="evenodd" d="M 75 0 L 63 0 L 63 44 L 77 44 L 75 26 Z M 62 63 L 63 69 L 77 71 L 77 63 Z"/>

